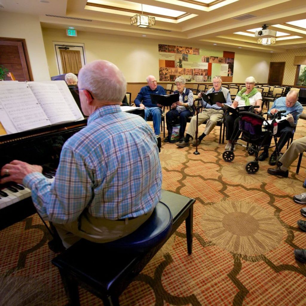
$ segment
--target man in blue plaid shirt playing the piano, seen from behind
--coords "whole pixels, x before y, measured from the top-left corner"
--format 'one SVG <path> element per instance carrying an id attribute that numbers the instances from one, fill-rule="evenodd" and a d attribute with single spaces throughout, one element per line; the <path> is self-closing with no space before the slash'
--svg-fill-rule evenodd
<path id="1" fill-rule="evenodd" d="M 85 238 L 107 242 L 136 230 L 160 200 L 162 172 L 156 136 L 147 123 L 122 112 L 122 72 L 95 61 L 79 72 L 81 107 L 88 125 L 62 148 L 51 183 L 42 167 L 13 160 L 0 183 L 32 190 L 38 213 L 53 223 L 66 248 Z"/>

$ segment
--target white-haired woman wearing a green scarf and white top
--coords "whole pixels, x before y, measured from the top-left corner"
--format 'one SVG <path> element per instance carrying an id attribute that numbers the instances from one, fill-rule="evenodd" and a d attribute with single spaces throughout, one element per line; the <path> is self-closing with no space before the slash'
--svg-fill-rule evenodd
<path id="1" fill-rule="evenodd" d="M 245 87 L 238 92 L 232 107 L 242 107 L 244 105 L 258 105 L 254 111 L 256 114 L 261 112 L 261 105 L 263 103 L 262 96 L 255 87 L 256 80 L 253 76 L 249 76 L 245 79 Z M 230 150 L 232 142 L 236 142 L 239 138 L 239 116 L 238 113 L 230 114 L 226 117 L 226 140 L 228 143 L 225 146 L 225 150 Z"/>

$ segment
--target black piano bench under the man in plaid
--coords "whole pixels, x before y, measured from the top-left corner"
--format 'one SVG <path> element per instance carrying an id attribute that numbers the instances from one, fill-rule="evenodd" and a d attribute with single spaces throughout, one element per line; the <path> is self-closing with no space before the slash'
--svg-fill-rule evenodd
<path id="1" fill-rule="evenodd" d="M 134 233 L 119 239 L 120 243 L 118 240 L 99 244 L 81 239 L 52 259 L 61 274 L 68 305 L 80 305 L 80 285 L 99 297 L 104 306 L 119 306 L 120 294 L 184 220 L 191 254 L 194 202 L 195 199 L 162 190 L 162 199 L 152 216 Z M 162 220 L 158 220 L 160 216 Z M 157 227 L 160 230 L 156 234 Z M 153 239 L 146 239 L 152 228 Z"/>

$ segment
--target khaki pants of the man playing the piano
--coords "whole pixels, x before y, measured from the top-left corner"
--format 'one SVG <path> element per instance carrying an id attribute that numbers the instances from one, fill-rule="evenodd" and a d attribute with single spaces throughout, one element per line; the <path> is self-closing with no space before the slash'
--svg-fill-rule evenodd
<path id="1" fill-rule="evenodd" d="M 85 238 L 92 242 L 105 243 L 125 237 L 137 230 L 151 216 L 152 212 L 145 215 L 119 220 L 95 218 L 85 210 L 79 220 L 66 223 L 53 223 L 58 235 L 61 237 L 65 248 Z"/>

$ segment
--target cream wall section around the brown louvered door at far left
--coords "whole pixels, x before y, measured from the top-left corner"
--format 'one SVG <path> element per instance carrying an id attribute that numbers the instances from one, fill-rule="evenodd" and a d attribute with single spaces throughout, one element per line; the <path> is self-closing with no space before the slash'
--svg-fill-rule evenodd
<path id="1" fill-rule="evenodd" d="M 0 37 L 23 38 L 34 81 L 50 80 L 38 16 L 0 12 Z"/>

